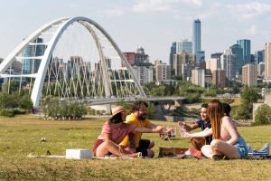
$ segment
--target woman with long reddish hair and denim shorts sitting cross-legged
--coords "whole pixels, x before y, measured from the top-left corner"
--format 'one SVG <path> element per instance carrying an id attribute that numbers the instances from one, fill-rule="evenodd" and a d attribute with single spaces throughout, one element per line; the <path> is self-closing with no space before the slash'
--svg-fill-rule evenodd
<path id="1" fill-rule="evenodd" d="M 225 116 L 220 100 L 211 100 L 208 103 L 207 114 L 210 118 L 211 129 L 198 133 L 185 133 L 186 138 L 199 138 L 212 135 L 210 145 L 201 148 L 206 157 L 219 160 L 222 158 L 246 158 L 248 148 L 244 138 L 240 137 L 229 116 Z"/>

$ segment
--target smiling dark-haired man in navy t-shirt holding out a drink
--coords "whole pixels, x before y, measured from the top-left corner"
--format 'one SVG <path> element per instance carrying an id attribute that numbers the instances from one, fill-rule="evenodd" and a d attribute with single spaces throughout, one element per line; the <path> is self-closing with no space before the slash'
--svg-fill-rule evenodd
<path id="1" fill-rule="evenodd" d="M 183 127 L 183 129 L 186 129 L 186 131 L 191 131 L 191 130 L 199 129 L 199 128 L 201 128 L 201 130 L 210 129 L 211 125 L 210 125 L 210 120 L 207 116 L 207 108 L 208 108 L 207 103 L 201 104 L 201 119 L 198 120 L 197 122 L 194 122 L 192 126 L 187 125 L 183 121 L 179 121 L 178 125 L 180 127 Z M 210 145 L 211 140 L 212 138 L 211 136 L 209 136 L 206 138 L 192 138 L 191 142 L 194 148 L 201 151 L 201 147 L 205 144 Z"/>

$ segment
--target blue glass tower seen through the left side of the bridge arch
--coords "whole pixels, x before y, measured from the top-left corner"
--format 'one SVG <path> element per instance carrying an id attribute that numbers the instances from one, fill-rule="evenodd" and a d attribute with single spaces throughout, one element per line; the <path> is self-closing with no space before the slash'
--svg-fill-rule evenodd
<path id="1" fill-rule="evenodd" d="M 44 54 L 45 45 L 44 44 L 38 44 L 43 43 L 42 38 L 37 38 L 33 45 L 28 45 L 24 52 L 23 56 L 28 57 L 23 60 L 23 73 L 29 74 L 29 73 L 36 73 L 40 67 L 40 64 L 42 62 L 41 58 L 35 58 L 35 57 L 41 57 Z"/>

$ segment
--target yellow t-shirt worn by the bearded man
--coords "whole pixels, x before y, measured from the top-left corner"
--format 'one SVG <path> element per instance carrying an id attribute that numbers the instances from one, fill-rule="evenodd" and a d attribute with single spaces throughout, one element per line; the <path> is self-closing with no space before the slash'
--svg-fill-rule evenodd
<path id="1" fill-rule="evenodd" d="M 145 120 L 137 119 L 133 113 L 126 117 L 125 122 L 128 124 L 134 124 L 135 127 L 139 127 L 139 128 L 147 128 L 149 125 L 152 124 L 152 122 L 149 121 L 148 119 L 145 119 Z M 139 140 L 141 139 L 141 136 L 142 136 L 142 133 L 135 132 L 135 148 L 138 148 Z M 126 138 L 124 138 L 123 141 L 119 145 L 128 146 L 129 145 L 128 136 L 126 136 Z"/>

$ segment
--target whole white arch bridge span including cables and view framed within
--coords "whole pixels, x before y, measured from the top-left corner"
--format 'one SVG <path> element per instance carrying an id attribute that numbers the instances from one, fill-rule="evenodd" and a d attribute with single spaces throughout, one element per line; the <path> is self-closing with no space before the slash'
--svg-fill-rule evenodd
<path id="1" fill-rule="evenodd" d="M 87 17 L 57 19 L 27 36 L 0 64 L 0 78 L 28 87 L 34 108 L 46 96 L 146 98 L 117 43 Z"/>

